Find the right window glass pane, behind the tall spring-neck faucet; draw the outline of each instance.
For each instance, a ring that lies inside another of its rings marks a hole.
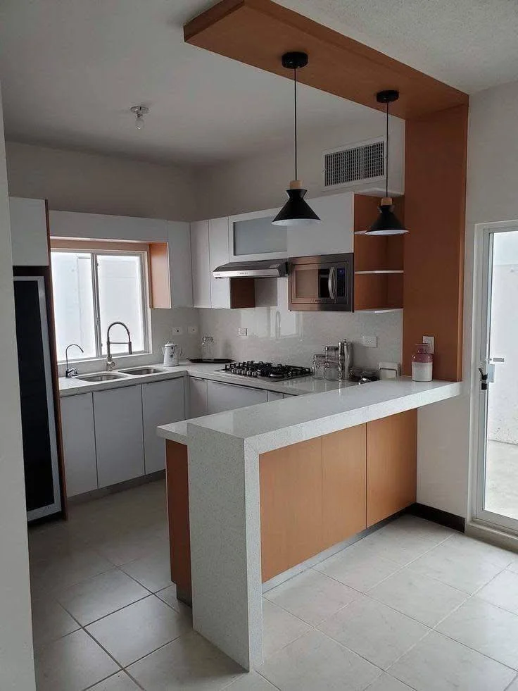
[[[113,321],[124,322],[130,329],[133,351],[143,351],[145,339],[140,256],[98,254],[97,275],[103,355],[106,355],[106,329]],[[113,354],[127,353],[127,334],[122,326],[112,328],[110,340],[124,342],[122,345],[113,345]]]

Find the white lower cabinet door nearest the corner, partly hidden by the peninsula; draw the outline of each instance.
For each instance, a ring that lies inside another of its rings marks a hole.
[[[185,419],[184,378],[142,385],[144,421],[144,467],[146,475],[165,468],[165,440],[158,437],[158,425]]]

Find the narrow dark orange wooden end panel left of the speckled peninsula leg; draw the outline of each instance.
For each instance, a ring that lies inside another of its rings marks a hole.
[[[171,580],[176,583],[177,597],[183,602],[190,603],[192,586],[187,446],[167,440],[165,442],[165,458]]]

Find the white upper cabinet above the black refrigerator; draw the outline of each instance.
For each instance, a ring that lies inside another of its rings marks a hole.
[[[45,201],[9,197],[9,211],[13,266],[48,266]]]

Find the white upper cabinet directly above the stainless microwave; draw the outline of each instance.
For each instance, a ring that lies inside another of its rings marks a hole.
[[[343,254],[353,251],[354,194],[342,192],[308,199],[322,223],[288,230],[289,256]]]

